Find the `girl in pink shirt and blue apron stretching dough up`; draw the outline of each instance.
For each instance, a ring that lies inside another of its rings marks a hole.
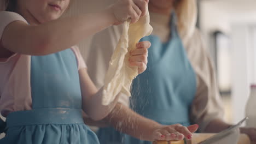
[[[101,105],[102,90],[90,80],[74,45],[128,18],[136,22],[146,1],[121,0],[98,13],[63,19],[58,18],[69,0],[9,0],[6,5],[0,12],[0,111],[7,121],[0,122],[0,132],[6,133],[0,143],[99,143],[82,110],[100,120],[118,97]],[[130,61],[138,73],[147,64],[142,48]]]

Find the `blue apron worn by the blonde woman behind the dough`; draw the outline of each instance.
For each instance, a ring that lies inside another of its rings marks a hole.
[[[166,44],[155,35],[143,38],[152,44],[148,50],[148,65],[132,84],[131,109],[140,115],[165,125],[190,125],[190,106],[196,91],[196,79],[175,25],[173,13],[171,39]],[[111,127],[98,131],[101,143],[146,144]]]

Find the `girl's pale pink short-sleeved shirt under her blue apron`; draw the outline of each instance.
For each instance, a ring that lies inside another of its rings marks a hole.
[[[9,23],[26,22],[21,15],[8,11],[0,11],[0,21],[0,40]],[[71,50],[77,57],[78,70],[86,68],[78,47],[73,46]],[[13,111],[32,109],[30,64],[31,56],[19,53],[15,53],[7,59],[0,59],[0,112],[2,116],[7,117]]]

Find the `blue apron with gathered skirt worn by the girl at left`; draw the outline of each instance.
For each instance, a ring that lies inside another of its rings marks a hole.
[[[71,49],[31,56],[32,110],[11,112],[2,144],[99,143],[83,122],[77,59]]]

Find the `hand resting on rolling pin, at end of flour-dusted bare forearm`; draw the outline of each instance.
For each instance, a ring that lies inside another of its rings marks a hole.
[[[184,138],[192,139],[192,133],[198,129],[199,125],[194,124],[189,127],[184,127],[181,124],[165,125],[156,128],[153,132],[154,140],[183,140]]]

